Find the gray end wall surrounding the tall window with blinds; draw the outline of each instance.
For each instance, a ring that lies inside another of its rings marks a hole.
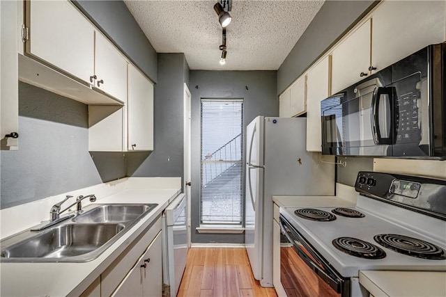
[[[246,88],[247,87],[247,88]],[[201,71],[190,72],[192,95],[192,242],[244,243],[243,234],[199,234],[200,184],[200,100],[243,98],[244,131],[257,115],[279,115],[276,71]],[[245,139],[243,140],[246,144]]]

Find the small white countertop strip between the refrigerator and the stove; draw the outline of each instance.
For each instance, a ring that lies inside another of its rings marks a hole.
[[[279,207],[353,207],[354,202],[337,196],[272,196]]]

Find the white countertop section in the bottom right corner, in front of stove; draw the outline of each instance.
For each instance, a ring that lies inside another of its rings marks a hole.
[[[378,296],[446,296],[446,272],[360,271],[360,284]]]

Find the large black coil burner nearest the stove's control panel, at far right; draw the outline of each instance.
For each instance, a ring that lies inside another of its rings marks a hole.
[[[374,239],[381,246],[404,255],[431,260],[446,259],[443,248],[421,239],[399,234],[378,234]]]

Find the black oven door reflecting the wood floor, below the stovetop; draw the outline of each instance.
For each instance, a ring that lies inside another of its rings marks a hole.
[[[288,296],[351,296],[342,278],[281,215],[279,224],[290,246],[281,246],[280,275]]]

